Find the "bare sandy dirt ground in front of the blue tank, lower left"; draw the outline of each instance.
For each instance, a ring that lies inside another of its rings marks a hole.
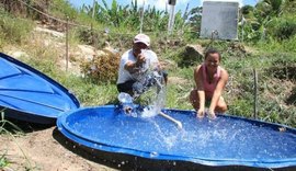
[[[0,135],[0,157],[9,164],[3,171],[113,171],[119,166],[80,150],[69,142],[56,126],[36,126],[16,123],[25,134]],[[12,128],[4,127],[10,130]],[[0,168],[1,170],[1,168]]]

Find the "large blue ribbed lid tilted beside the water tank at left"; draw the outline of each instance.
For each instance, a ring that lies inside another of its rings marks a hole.
[[[7,117],[49,124],[80,106],[61,84],[1,53],[0,68],[0,106],[8,109]]]

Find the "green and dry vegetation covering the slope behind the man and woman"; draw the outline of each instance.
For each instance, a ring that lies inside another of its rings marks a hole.
[[[151,48],[164,62],[169,80],[175,80],[167,87],[167,107],[192,109],[187,95],[194,87],[193,69],[203,57],[187,45],[198,44],[203,49],[212,46],[223,53],[223,65],[230,73],[224,94],[229,104],[229,114],[254,117],[253,101],[257,98],[259,119],[296,126],[294,0],[262,0],[255,7],[242,7],[239,33],[243,34],[239,34],[239,38],[243,42],[197,39],[203,10],[201,7],[186,10],[183,14],[179,11],[174,30],[168,35],[168,11],[159,11],[155,7],[147,7],[143,11],[137,0],[128,5],[119,5],[113,0],[111,7],[106,0],[102,0],[102,4],[96,1],[94,11],[92,5],[75,9],[65,0],[25,2],[0,0],[0,49],[13,45],[27,49],[30,57],[21,59],[75,92],[81,105],[116,102],[115,81],[119,54],[130,47],[130,39],[141,27],[139,16],[143,14],[143,32],[150,35]],[[81,61],[84,77],[61,69],[57,65],[59,52],[55,47],[42,46],[42,38],[32,37],[35,21],[64,32],[67,20],[71,23],[70,44],[84,43],[98,49],[111,46],[117,50],[113,53],[104,49],[105,54],[95,56],[91,61]],[[257,96],[254,71],[258,75]],[[0,134],[8,134],[4,124],[12,123],[2,116]],[[0,169],[9,164],[5,156],[5,151],[0,151]]]

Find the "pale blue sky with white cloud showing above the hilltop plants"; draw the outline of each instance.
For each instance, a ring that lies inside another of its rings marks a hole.
[[[71,4],[73,4],[73,7],[79,8],[81,7],[83,3],[84,4],[89,4],[92,5],[93,0],[68,0]],[[102,3],[102,0],[95,0],[99,3]],[[109,2],[109,4],[111,4],[112,0],[105,0],[106,2]],[[130,4],[132,0],[116,0],[119,4]],[[157,9],[159,10],[164,10],[166,9],[166,2],[168,0],[138,0],[138,4],[141,5],[143,2],[145,1],[145,7],[147,7],[147,4],[151,4],[155,5]],[[254,5],[259,0],[210,0],[210,1],[236,1],[239,2],[240,5],[246,5],[246,4],[250,4],[250,5]],[[175,11],[181,10],[182,12],[185,11],[186,5],[189,3],[189,9],[192,9],[194,7],[200,7],[203,3],[203,0],[177,0],[177,4],[175,4]]]

